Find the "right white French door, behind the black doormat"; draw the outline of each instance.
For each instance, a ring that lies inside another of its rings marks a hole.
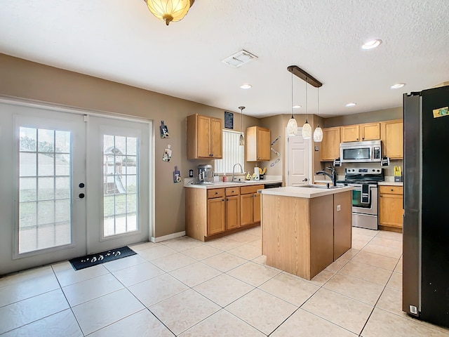
[[[151,124],[90,116],[87,121],[88,253],[149,239]]]

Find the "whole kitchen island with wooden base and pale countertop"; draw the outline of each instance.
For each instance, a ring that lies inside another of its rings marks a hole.
[[[309,186],[262,191],[267,265],[304,279],[312,279],[351,248],[353,187]]]

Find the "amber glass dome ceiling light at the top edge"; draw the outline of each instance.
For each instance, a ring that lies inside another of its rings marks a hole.
[[[195,0],[144,0],[148,9],[159,20],[177,22],[187,15]]]

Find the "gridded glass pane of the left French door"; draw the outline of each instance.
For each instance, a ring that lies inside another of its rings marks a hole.
[[[19,253],[72,242],[70,139],[68,131],[20,127]]]

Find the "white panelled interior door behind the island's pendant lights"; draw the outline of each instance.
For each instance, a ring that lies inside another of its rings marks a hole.
[[[310,140],[302,138],[301,130],[298,128],[296,136],[286,136],[286,186],[311,183]]]

